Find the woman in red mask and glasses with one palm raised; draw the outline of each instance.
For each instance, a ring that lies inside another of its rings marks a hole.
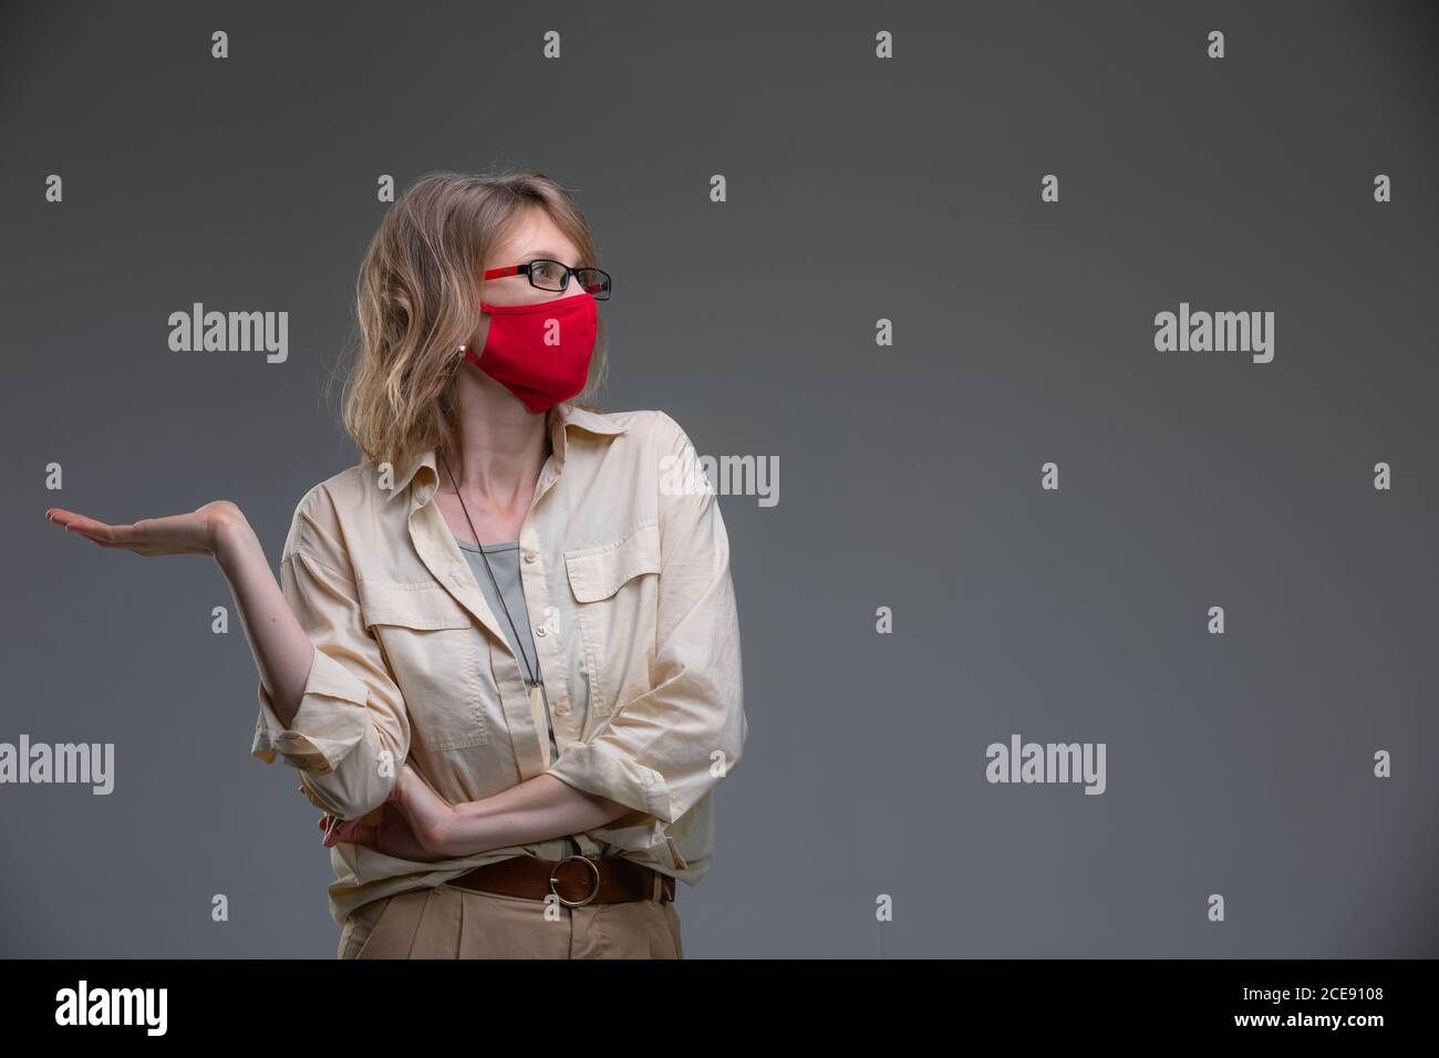
[[[589,226],[538,173],[420,180],[360,272],[344,425],[279,584],[229,501],[106,525],[213,554],[260,674],[252,756],[324,812],[338,957],[684,957],[747,725],[730,548],[663,412],[604,370]]]

